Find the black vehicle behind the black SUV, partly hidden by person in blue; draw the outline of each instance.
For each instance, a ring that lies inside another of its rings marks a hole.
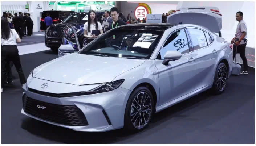
[[[41,19],[40,19],[40,30],[44,31],[46,30],[46,25],[44,23],[44,18],[47,17],[47,14],[50,14],[50,17],[52,18],[53,24],[58,24],[61,21],[65,20],[70,14],[76,13],[75,11],[57,11],[57,10],[51,10],[51,11],[43,11]]]

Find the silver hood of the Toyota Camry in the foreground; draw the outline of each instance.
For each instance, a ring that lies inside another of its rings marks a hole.
[[[33,71],[33,77],[74,85],[111,82],[144,61],[73,53],[38,66]]]

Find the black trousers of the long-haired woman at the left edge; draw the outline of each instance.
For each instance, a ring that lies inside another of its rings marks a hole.
[[[1,87],[3,87],[4,83],[6,82],[6,78],[7,78],[6,66],[8,65],[8,61],[13,62],[19,74],[20,83],[25,84],[26,79],[25,79],[23,70],[21,68],[20,56],[18,54],[17,46],[4,45],[1,47]]]

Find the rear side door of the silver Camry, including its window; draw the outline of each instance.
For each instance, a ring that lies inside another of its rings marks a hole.
[[[192,41],[192,52],[195,54],[196,82],[195,89],[210,85],[215,74],[218,48],[213,44],[210,34],[202,29],[187,28]]]

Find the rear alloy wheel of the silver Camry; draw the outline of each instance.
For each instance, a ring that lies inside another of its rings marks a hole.
[[[219,68],[216,84],[219,91],[223,91],[227,84],[227,69],[224,66]]]

